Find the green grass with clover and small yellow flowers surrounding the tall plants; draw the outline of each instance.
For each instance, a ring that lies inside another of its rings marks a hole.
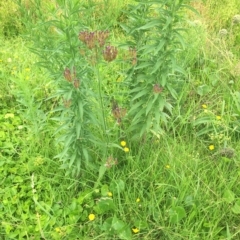
[[[219,20],[229,27],[239,14],[238,3],[229,2],[223,18],[213,0],[194,5],[207,17],[196,27],[197,16],[189,15],[188,48],[178,56],[188,77],[164,132],[136,141],[126,135],[129,153],[116,139],[118,164],[101,168],[106,159],[99,156],[98,166],[78,177],[55,158],[62,148],[53,120],[61,104],[53,97],[57,77],[35,64],[27,29],[23,37],[0,38],[0,239],[240,239],[239,26],[226,39],[217,36]],[[118,23],[126,20],[120,13],[127,3],[115,9],[112,1],[97,21],[99,5],[89,1],[89,24],[111,27],[112,40],[121,42]],[[118,66],[101,70],[109,95],[121,89],[113,77]],[[225,148],[234,155],[221,152]]]

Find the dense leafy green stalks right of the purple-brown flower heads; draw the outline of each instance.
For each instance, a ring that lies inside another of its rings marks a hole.
[[[129,22],[122,27],[133,52],[127,78],[128,131],[133,138],[148,132],[159,136],[168,126],[186,74],[178,61],[186,47],[182,37],[185,7],[189,8],[184,1],[139,1],[129,6]]]

